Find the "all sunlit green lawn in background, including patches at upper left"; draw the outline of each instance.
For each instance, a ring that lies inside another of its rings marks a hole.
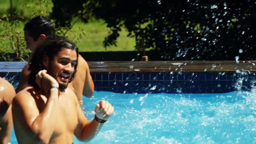
[[[26,2],[27,7],[22,7],[22,3]],[[50,4],[47,10],[51,11],[53,4],[49,0]],[[0,15],[6,13],[10,7],[10,0],[0,0]],[[30,14],[33,10],[36,10],[39,6],[35,6],[33,0],[13,0],[13,7],[23,15],[24,17],[31,18]],[[45,15],[45,14],[44,14]],[[47,15],[47,13],[46,13]],[[21,32],[23,35],[23,26],[26,23],[20,22],[20,25],[16,26],[16,31]],[[85,35],[82,34],[82,30]],[[70,40],[75,40],[76,45],[79,47],[80,52],[105,52],[105,51],[134,51],[135,50],[135,38],[127,37],[128,32],[122,29],[120,36],[117,39],[117,46],[109,46],[105,48],[103,46],[103,40],[110,30],[106,27],[106,23],[103,20],[89,20],[89,23],[77,22],[67,33],[66,36]],[[3,45],[8,49],[8,39],[2,41]],[[8,50],[11,50],[10,48]]]

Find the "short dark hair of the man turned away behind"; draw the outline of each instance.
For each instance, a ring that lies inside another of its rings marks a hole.
[[[28,31],[29,36],[33,37],[34,41],[37,41],[41,34],[55,36],[55,26],[53,22],[44,16],[32,18],[25,24],[23,30]]]

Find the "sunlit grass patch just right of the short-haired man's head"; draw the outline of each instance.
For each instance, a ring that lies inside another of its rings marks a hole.
[[[82,28],[85,31],[85,35],[79,29]],[[105,52],[105,51],[134,51],[135,39],[127,37],[128,32],[122,29],[120,36],[117,39],[117,46],[110,46],[105,48],[103,46],[103,40],[110,30],[106,27],[106,23],[103,20],[89,20],[89,23],[76,23],[72,29],[67,33],[69,39],[74,39],[82,34],[81,38],[77,42],[80,52]]]

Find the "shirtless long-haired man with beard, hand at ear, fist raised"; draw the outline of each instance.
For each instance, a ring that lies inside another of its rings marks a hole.
[[[28,86],[13,99],[13,124],[19,144],[71,144],[73,135],[90,141],[112,115],[108,101],[95,106],[88,121],[69,83],[75,76],[78,49],[69,40],[46,38],[30,60]]]

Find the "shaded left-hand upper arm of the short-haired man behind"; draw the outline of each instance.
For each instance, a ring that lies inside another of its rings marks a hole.
[[[30,71],[28,70],[28,68],[29,68],[29,64],[26,64],[20,74],[20,81],[19,81],[19,85],[16,88],[16,93],[20,92],[21,90],[27,87],[28,75],[30,74]]]

